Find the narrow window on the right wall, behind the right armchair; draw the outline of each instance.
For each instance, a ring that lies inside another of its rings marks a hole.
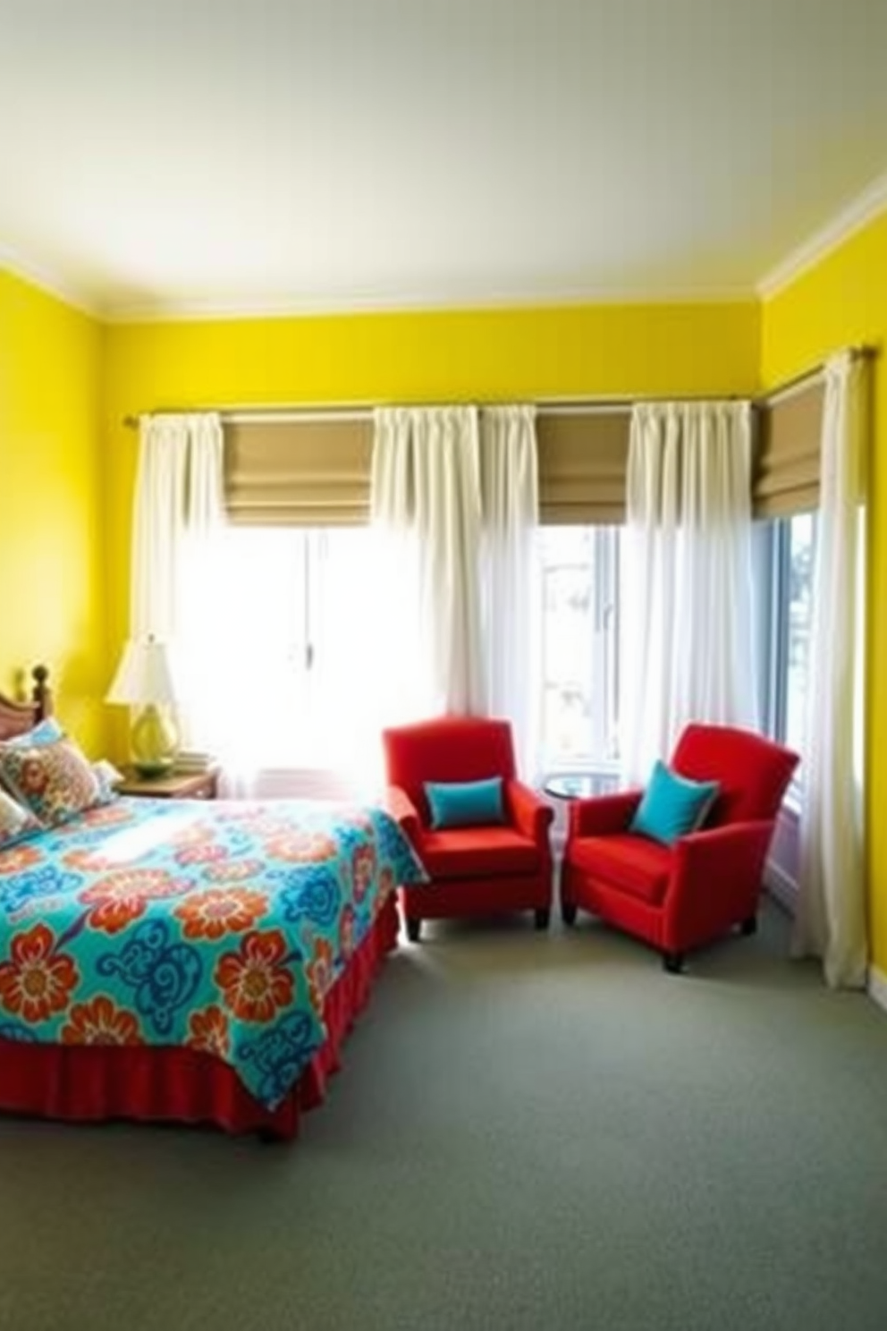
[[[757,540],[763,715],[773,737],[803,755],[817,550],[815,514],[802,512],[763,522],[758,526]],[[798,773],[798,788],[802,776],[803,765]]]

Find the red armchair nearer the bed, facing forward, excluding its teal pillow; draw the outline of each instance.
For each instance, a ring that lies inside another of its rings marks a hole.
[[[553,811],[516,780],[508,721],[447,716],[383,732],[391,812],[412,841],[431,882],[400,889],[407,934],[415,942],[423,920],[533,910],[548,928]],[[426,781],[503,777],[505,823],[431,828]]]

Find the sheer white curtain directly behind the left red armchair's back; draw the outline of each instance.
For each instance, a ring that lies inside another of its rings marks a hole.
[[[398,615],[384,719],[484,715],[473,407],[376,410],[371,515]]]

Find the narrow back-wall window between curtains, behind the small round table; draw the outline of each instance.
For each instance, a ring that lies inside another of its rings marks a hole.
[[[618,757],[618,527],[540,528],[543,763]]]

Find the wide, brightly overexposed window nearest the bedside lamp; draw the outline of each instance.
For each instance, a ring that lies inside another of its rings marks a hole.
[[[378,748],[368,528],[229,527],[214,572],[223,636],[190,616],[198,732],[247,765],[359,771]]]

